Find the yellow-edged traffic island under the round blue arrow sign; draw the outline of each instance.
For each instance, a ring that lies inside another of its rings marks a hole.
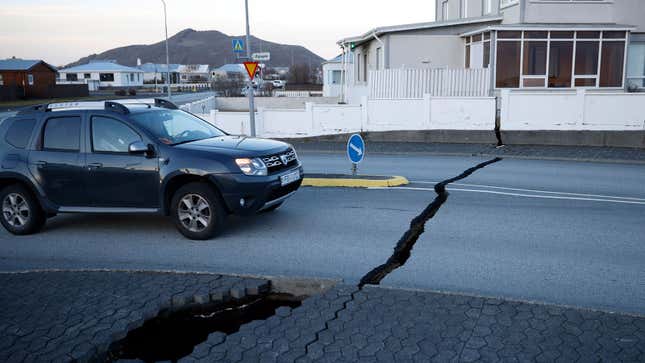
[[[302,180],[302,186],[307,187],[384,188],[406,184],[410,182],[402,176],[310,174]]]

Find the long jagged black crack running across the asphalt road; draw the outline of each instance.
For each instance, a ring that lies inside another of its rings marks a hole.
[[[426,208],[419,214],[414,217],[410,222],[410,228],[405,231],[401,239],[396,243],[394,247],[394,252],[388,260],[369,271],[365,276],[363,276],[358,284],[359,288],[362,288],[365,285],[378,285],[381,280],[385,278],[390,272],[396,270],[397,268],[405,265],[412,254],[412,248],[419,239],[419,236],[425,231],[426,223],[435,216],[439,208],[443,203],[448,200],[448,193],[446,191],[446,185],[456,182],[461,179],[465,179],[470,176],[475,171],[486,167],[487,165],[496,163],[502,160],[502,158],[494,158],[483,163],[479,163],[472,168],[466,169],[463,173],[457,175],[456,177],[446,179],[442,182],[435,184],[434,191],[437,193],[435,199],[426,206]]]

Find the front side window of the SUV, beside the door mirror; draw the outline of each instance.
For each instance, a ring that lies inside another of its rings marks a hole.
[[[128,146],[141,137],[121,121],[101,116],[92,117],[92,147],[96,152],[127,153]]]

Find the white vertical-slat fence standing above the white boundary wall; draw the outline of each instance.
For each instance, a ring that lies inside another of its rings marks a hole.
[[[490,94],[490,70],[383,69],[369,72],[370,99],[434,97],[486,97]]]

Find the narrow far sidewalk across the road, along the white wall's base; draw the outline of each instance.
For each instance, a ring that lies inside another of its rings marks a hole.
[[[346,143],[326,141],[292,142],[303,152],[345,153]],[[518,159],[593,161],[610,163],[645,164],[645,149],[617,147],[506,145],[500,148],[491,144],[439,144],[420,142],[369,142],[367,153],[374,154],[428,154],[454,156],[485,156]]]

